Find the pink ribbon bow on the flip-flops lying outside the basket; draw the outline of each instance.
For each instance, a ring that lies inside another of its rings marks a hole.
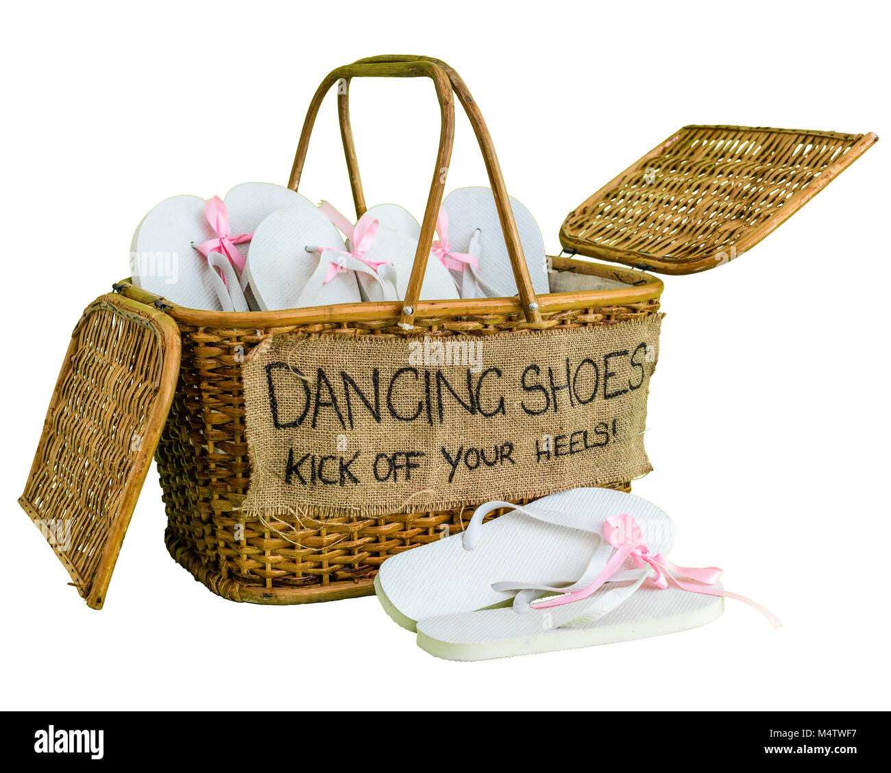
[[[670,583],[674,584],[681,590],[688,590],[691,593],[704,593],[707,596],[723,596],[725,598],[736,598],[745,602],[749,606],[754,606],[761,614],[764,614],[773,625],[779,628],[782,623],[775,615],[769,612],[764,606],[757,604],[751,598],[740,596],[738,593],[731,593],[728,590],[720,590],[717,588],[708,588],[708,585],[714,585],[723,574],[723,569],[716,566],[707,566],[699,569],[695,566],[677,566],[669,561],[660,553],[651,553],[650,549],[644,544],[642,539],[641,527],[633,517],[629,515],[612,516],[606,519],[603,524],[603,537],[614,548],[616,553],[609,559],[607,565],[603,567],[603,571],[598,575],[587,588],[574,590],[570,593],[564,593],[558,598],[552,598],[547,601],[535,604],[535,609],[545,609],[549,606],[561,606],[569,604],[573,601],[580,601],[588,598],[595,590],[601,588],[605,582],[609,582],[609,578],[618,572],[625,563],[625,559],[631,558],[634,566],[638,569],[649,567],[654,574],[650,574],[644,581],[647,585],[659,590],[666,590]],[[691,580],[703,583],[702,585],[692,585],[689,582],[679,580],[674,574],[680,574],[683,577],[689,577]]]

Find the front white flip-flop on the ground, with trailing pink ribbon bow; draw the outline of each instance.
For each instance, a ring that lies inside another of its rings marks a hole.
[[[774,627],[781,625],[763,606],[723,590],[721,569],[676,566],[650,549],[654,543],[627,513],[607,517],[602,537],[613,552],[593,582],[590,573],[562,587],[495,582],[495,589],[516,592],[511,607],[422,620],[418,646],[447,660],[476,661],[642,639],[712,622],[722,614],[724,598],[744,601]]]

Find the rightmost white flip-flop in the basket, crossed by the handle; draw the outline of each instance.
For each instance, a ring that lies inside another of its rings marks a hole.
[[[536,295],[543,295],[549,289],[542,232],[529,210],[512,196],[510,200],[532,289]],[[516,281],[492,190],[459,188],[446,196],[443,208],[448,222],[446,233],[439,230],[439,248],[445,247],[457,256],[475,252],[478,261],[478,266],[474,266],[459,257],[463,265],[452,269],[461,297],[515,296]],[[477,242],[476,249],[471,240]]]

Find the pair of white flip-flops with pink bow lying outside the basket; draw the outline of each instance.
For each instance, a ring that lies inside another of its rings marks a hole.
[[[496,509],[513,509],[487,523]],[[523,507],[480,506],[466,531],[387,559],[381,606],[418,645],[475,661],[695,628],[723,612],[721,570],[663,554],[674,523],[632,494],[580,488]]]

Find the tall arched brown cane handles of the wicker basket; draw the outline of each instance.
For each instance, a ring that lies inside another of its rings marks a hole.
[[[486,172],[489,175],[489,183],[495,194],[495,207],[501,220],[504,232],[504,241],[507,245],[508,255],[511,257],[514,281],[519,290],[519,299],[523,307],[523,313],[529,322],[540,322],[541,313],[538,311],[538,301],[532,289],[532,281],[529,279],[529,270],[526,258],[523,256],[523,248],[519,242],[517,224],[514,222],[511,210],[511,199],[495,156],[495,148],[489,135],[486,122],[479,112],[477,103],[474,102],[467,86],[461,77],[445,62],[430,59],[423,56],[377,56],[371,59],[356,61],[344,67],[331,71],[316,90],[312,102],[307,110],[307,118],[303,123],[300,133],[297,155],[294,158],[294,166],[290,173],[288,186],[296,191],[303,172],[303,164],[307,159],[309,138],[312,134],[315,118],[322,105],[325,94],[334,84],[338,87],[338,115],[340,120],[340,137],[343,141],[344,154],[347,157],[347,169],[349,172],[350,187],[353,191],[353,201],[356,205],[356,217],[361,217],[365,212],[364,193],[362,180],[359,176],[356,148],[353,143],[353,132],[349,124],[349,81],[353,77],[429,77],[436,88],[437,98],[441,112],[441,125],[439,132],[439,149],[437,151],[437,164],[433,173],[433,182],[430,184],[430,192],[427,199],[427,208],[424,211],[424,219],[421,222],[421,236],[418,240],[418,250],[414,256],[412,274],[409,277],[408,287],[405,290],[405,301],[400,313],[400,324],[404,327],[413,325],[414,315],[418,312],[418,301],[421,296],[421,283],[424,280],[424,271],[427,268],[427,259],[430,248],[433,246],[433,237],[436,232],[437,215],[442,204],[443,190],[446,186],[446,175],[442,174],[447,169],[452,158],[452,146],[454,143],[454,100],[452,91],[458,95],[459,101],[470,118],[470,125],[477,136],[479,149],[483,160],[486,162]]]

